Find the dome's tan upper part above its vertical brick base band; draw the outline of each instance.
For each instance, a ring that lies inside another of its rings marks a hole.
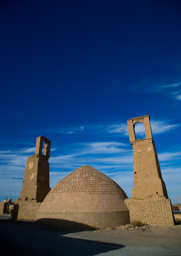
[[[100,212],[128,210],[128,198],[108,176],[84,165],[60,180],[47,194],[38,212]]]

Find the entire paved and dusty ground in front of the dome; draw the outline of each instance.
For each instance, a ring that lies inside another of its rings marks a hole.
[[[181,255],[181,222],[95,232],[0,216],[0,245],[2,256],[176,256]]]

